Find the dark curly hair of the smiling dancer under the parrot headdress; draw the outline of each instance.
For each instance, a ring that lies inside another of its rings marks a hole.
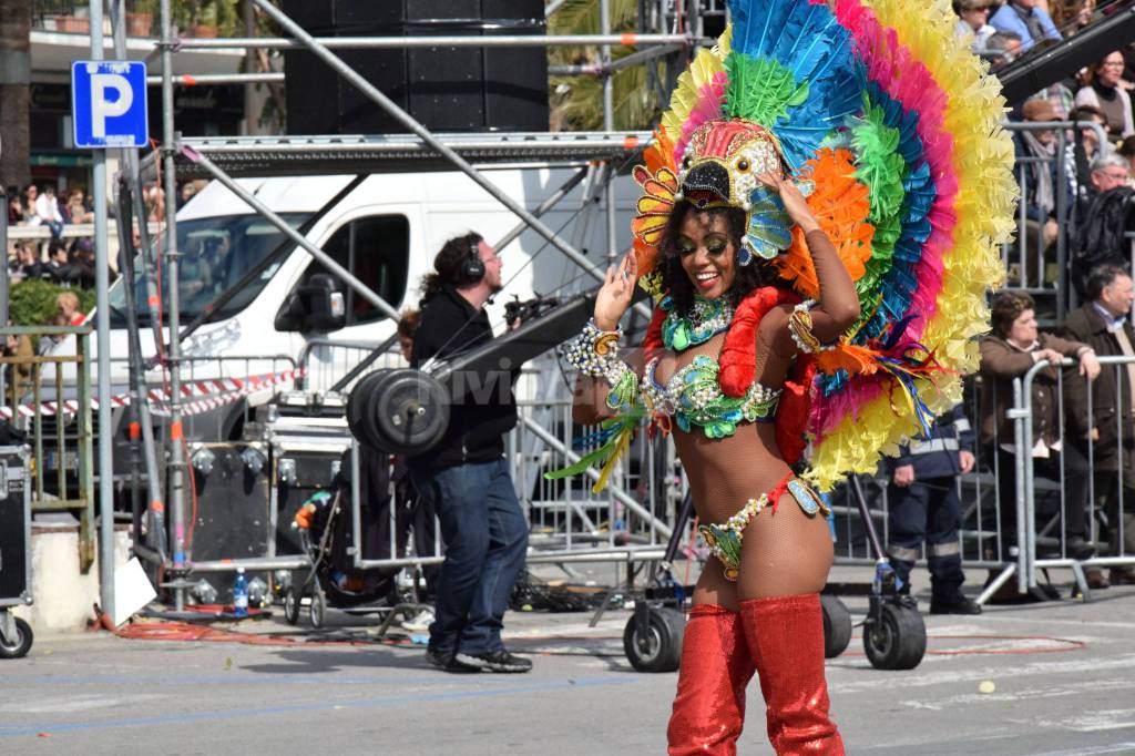
[[[699,216],[724,216],[729,227],[729,238],[733,243],[733,249],[741,249],[741,240],[745,237],[747,224],[745,211],[738,208],[713,208],[711,210],[698,210],[688,200],[680,200],[670,219],[666,221],[666,229],[663,234],[658,251],[662,253],[662,286],[674,300],[674,310],[679,314],[689,314],[693,306],[693,282],[682,268],[682,255],[678,250],[678,238],[682,234],[682,224],[686,218],[696,212]],[[776,270],[766,260],[754,258],[747,266],[738,264],[737,277],[733,285],[725,292],[725,296],[733,304],[739,303],[749,292],[762,286],[787,285],[782,282]]]

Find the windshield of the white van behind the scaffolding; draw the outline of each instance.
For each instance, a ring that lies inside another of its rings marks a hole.
[[[311,213],[291,212],[280,215],[292,228],[297,228]],[[286,241],[283,233],[260,216],[221,216],[177,221],[178,293],[182,321],[201,314],[218,296],[234,286],[245,274],[260,263]],[[239,312],[257,297],[279,269],[284,255],[274,261],[220,308],[215,317],[226,318]],[[162,259],[161,287],[169,291],[169,279]],[[150,309],[146,306],[146,283],[137,275],[135,262],[135,303],[140,325],[150,325]],[[110,289],[110,324],[112,328],[126,326],[126,292],[123,280]],[[169,316],[169,297],[162,296],[162,316]]]

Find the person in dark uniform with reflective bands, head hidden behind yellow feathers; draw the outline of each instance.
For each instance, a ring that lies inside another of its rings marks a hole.
[[[961,405],[939,418],[926,438],[899,447],[888,461],[891,482],[888,548],[891,565],[909,589],[923,541],[930,568],[931,614],[981,614],[961,593],[961,502],[958,476],[974,469],[974,431]]]

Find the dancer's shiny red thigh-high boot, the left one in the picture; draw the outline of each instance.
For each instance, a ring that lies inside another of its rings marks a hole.
[[[737,612],[715,604],[695,606],[682,638],[682,666],[666,729],[666,753],[737,754],[745,721],[745,687],[753,671]]]

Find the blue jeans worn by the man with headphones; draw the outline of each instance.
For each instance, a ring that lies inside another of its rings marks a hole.
[[[432,488],[445,543],[430,650],[485,654],[504,648],[504,613],[528,552],[528,521],[507,463],[459,464],[415,472],[414,479]]]

